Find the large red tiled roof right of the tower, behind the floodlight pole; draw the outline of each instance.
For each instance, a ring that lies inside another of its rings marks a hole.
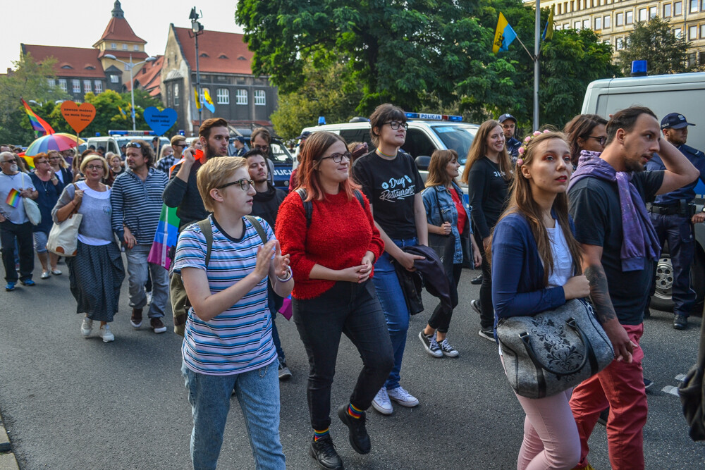
[[[190,28],[174,27],[183,54],[196,70],[196,52]],[[204,31],[198,37],[199,68],[207,73],[242,73],[252,75],[252,52],[243,35],[235,32]],[[205,55],[204,55],[205,54]]]

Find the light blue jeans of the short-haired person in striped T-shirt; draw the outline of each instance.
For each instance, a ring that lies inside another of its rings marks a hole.
[[[196,373],[181,362],[181,373],[188,388],[188,401],[193,414],[191,463],[195,470],[216,468],[233,388],[245,416],[255,468],[286,468],[279,440],[279,378],[276,366],[274,361],[254,371],[209,376]]]

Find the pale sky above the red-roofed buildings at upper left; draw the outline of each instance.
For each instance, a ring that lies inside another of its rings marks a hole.
[[[0,41],[0,73],[20,58],[20,43],[92,47],[111,18],[114,0],[0,0],[4,18]],[[235,25],[236,0],[121,0],[135,34],[147,41],[147,54],[164,54],[169,23],[190,27],[192,7],[211,31],[243,32]]]

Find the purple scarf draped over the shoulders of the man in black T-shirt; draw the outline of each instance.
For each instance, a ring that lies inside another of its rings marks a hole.
[[[609,163],[600,158],[598,152],[583,150],[580,152],[577,170],[570,178],[568,190],[582,178],[588,177],[617,183],[622,212],[622,271],[640,271],[644,269],[644,259],[658,260],[661,245],[658,243],[651,218],[646,213],[644,201],[637,187],[631,182],[632,173],[615,171]]]

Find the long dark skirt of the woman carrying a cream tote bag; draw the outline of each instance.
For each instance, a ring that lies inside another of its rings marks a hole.
[[[76,256],[66,258],[76,313],[95,321],[113,321],[118,311],[120,287],[125,279],[123,258],[115,242],[86,245],[78,242]]]

